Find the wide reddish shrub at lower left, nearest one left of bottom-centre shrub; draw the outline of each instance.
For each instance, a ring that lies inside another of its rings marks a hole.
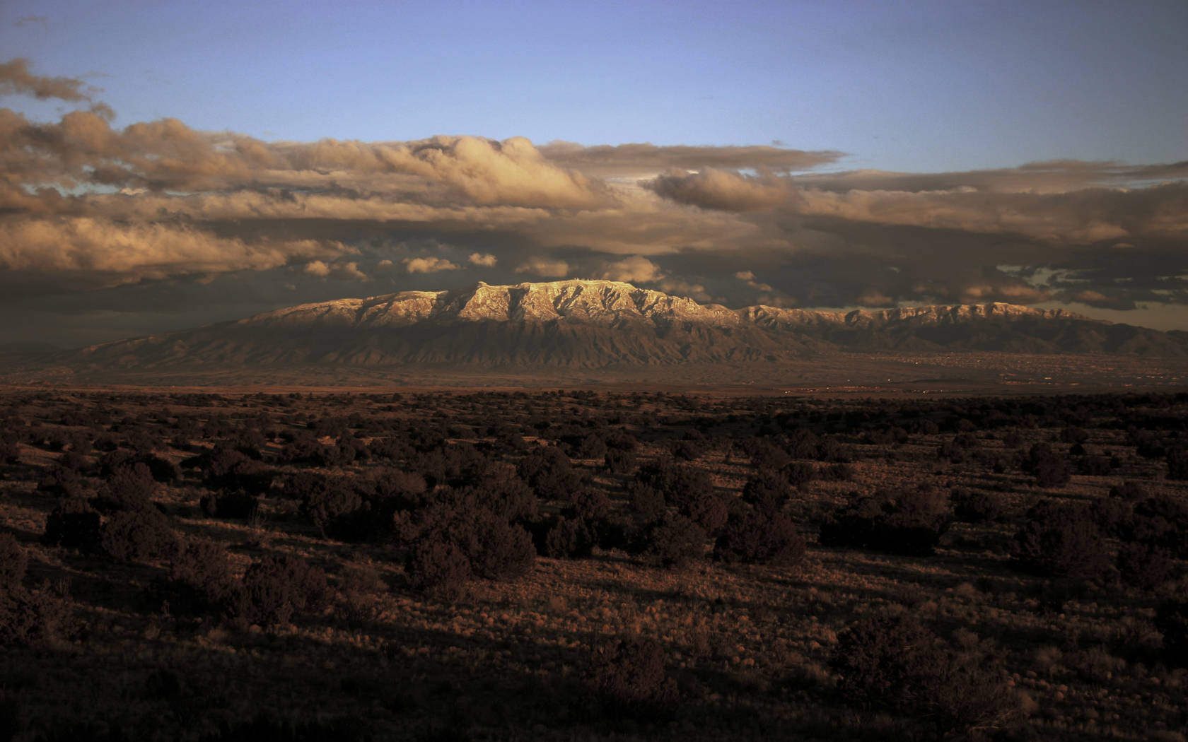
[[[301,557],[263,557],[244,572],[229,614],[241,626],[283,626],[293,614],[321,613],[331,598],[321,567]]]

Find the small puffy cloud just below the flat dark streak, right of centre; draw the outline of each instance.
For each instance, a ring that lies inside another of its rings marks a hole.
[[[744,176],[725,170],[670,171],[640,185],[658,195],[703,209],[766,211],[789,198],[785,180],[773,176]]]

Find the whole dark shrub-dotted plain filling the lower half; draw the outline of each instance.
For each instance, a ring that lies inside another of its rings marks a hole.
[[[1188,394],[0,393],[0,738],[1182,740]]]

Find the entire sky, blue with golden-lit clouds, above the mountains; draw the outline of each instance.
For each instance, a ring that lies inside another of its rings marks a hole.
[[[1188,330],[1188,4],[0,5],[0,344],[611,279]]]

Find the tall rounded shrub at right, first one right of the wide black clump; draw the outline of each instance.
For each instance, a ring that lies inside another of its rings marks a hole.
[[[1107,566],[1105,541],[1087,507],[1044,500],[1026,518],[1011,551],[1017,567],[1059,577],[1101,576]]]

